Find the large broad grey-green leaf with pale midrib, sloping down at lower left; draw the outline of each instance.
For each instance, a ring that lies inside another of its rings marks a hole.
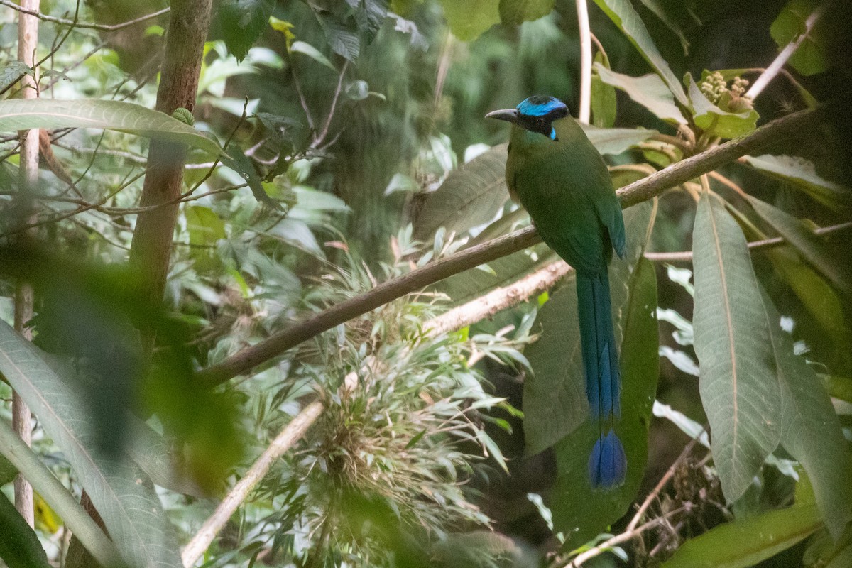
[[[181,566],[158,496],[128,461],[95,453],[95,433],[78,393],[55,375],[36,347],[0,322],[0,372],[65,453],[107,530],[130,565]]]

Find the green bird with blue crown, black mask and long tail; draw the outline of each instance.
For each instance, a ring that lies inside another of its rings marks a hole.
[[[609,301],[613,249],[625,255],[625,221],[601,154],[565,104],[531,96],[486,118],[512,123],[506,185],[538,234],[577,272],[577,309],[590,416],[600,435],[591,450],[592,487],[625,480],[627,458],[613,431],[620,415],[619,356]]]

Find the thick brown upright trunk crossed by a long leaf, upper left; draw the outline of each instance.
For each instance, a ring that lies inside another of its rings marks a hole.
[[[212,0],[173,0],[165,59],[157,91],[157,110],[171,114],[195,105],[204,40],[210,27]],[[145,301],[163,299],[169,272],[171,242],[181,196],[186,148],[166,141],[151,141],[148,171],[142,186],[141,207],[162,205],[141,213],[136,220],[130,263],[145,278]],[[147,338],[147,349],[153,338]]]

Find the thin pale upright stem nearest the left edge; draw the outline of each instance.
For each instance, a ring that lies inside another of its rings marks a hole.
[[[37,12],[41,0],[21,0],[20,7]],[[29,14],[18,14],[18,60],[26,66],[35,66],[38,45],[38,19]],[[35,99],[38,96],[38,70],[33,76],[21,80],[21,96]],[[38,181],[38,129],[20,131],[20,210],[22,216],[32,218],[33,190]],[[29,238],[29,231],[22,232],[21,241]],[[14,329],[28,340],[32,330],[26,323],[32,318],[32,284],[19,282],[14,294]],[[17,393],[12,395],[12,426],[26,445],[32,444],[32,414]],[[14,478],[14,506],[26,522],[32,526],[35,517],[32,507],[32,485],[20,473]]]

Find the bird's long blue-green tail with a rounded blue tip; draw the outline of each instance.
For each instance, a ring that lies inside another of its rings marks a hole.
[[[599,427],[598,439],[589,457],[589,477],[592,487],[609,489],[624,483],[627,457],[621,440],[613,431],[621,415],[621,377],[606,270],[593,277],[577,275],[577,309],[586,396],[591,419]]]

